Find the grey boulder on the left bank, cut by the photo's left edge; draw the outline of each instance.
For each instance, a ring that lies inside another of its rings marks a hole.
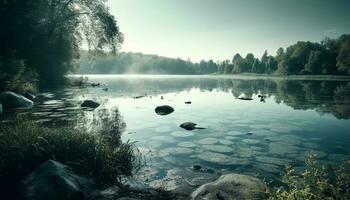
[[[23,108],[30,107],[33,105],[33,101],[27,99],[26,97],[16,94],[14,92],[2,92],[0,93],[0,103],[3,108]]]

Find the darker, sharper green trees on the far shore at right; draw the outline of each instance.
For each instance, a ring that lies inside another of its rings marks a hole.
[[[276,56],[264,52],[256,58],[252,53],[245,57],[234,55],[218,65],[219,74],[280,74],[280,75],[349,75],[350,35],[336,39],[326,38],[320,43],[297,42],[285,49],[279,48]]]

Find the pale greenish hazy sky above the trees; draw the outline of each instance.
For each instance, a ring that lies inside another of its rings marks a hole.
[[[108,0],[121,51],[191,61],[260,57],[350,33],[350,0]]]

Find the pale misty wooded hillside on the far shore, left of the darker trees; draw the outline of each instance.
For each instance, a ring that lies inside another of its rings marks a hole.
[[[87,53],[85,53],[87,54]],[[212,74],[218,65],[202,60],[193,63],[180,58],[120,52],[90,59],[83,56],[78,73],[81,74]]]

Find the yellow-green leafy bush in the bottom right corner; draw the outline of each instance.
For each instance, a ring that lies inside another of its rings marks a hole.
[[[321,166],[311,153],[305,164],[306,169],[298,174],[288,166],[282,178],[285,187],[274,189],[269,199],[350,199],[350,161],[338,167]]]

